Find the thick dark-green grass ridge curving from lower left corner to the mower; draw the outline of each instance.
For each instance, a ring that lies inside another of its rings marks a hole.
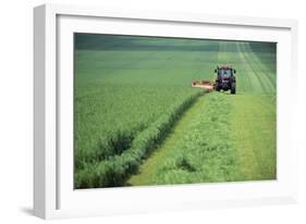
[[[131,148],[120,155],[88,164],[85,169],[77,171],[75,173],[75,188],[119,187],[124,185],[126,178],[137,172],[142,160],[158,147],[175,122],[201,95],[203,92],[196,92],[164,113],[147,129],[138,134]]]

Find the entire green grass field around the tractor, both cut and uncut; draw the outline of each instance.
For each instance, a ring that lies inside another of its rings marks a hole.
[[[237,92],[204,94],[231,64]],[[75,188],[274,179],[276,45],[75,35]]]

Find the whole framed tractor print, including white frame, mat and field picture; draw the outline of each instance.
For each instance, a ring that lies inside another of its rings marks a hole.
[[[36,215],[296,201],[295,21],[34,13]]]

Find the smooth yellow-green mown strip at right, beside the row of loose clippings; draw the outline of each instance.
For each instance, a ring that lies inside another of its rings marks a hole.
[[[238,95],[230,99],[231,138],[238,154],[237,181],[276,179],[276,102],[272,95]]]

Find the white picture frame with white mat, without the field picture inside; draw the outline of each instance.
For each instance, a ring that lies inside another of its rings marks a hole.
[[[297,90],[290,85],[298,79],[296,21],[44,4],[34,10],[34,28],[35,215],[58,219],[297,201],[298,145],[293,130],[298,124],[292,100]],[[69,140],[74,32],[277,41],[278,179],[74,190]]]

